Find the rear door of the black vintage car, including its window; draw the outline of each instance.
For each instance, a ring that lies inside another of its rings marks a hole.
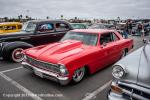
[[[70,27],[66,23],[56,22],[55,29],[56,29],[55,34],[56,40],[60,40],[70,30]]]

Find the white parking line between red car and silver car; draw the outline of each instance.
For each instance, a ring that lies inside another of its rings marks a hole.
[[[92,93],[88,93],[88,95],[83,98],[82,100],[91,100],[93,99],[97,94],[99,94],[100,92],[102,92],[105,88],[107,88],[111,83],[111,80],[109,82],[107,82],[106,84],[104,84],[103,86],[99,87],[97,90],[93,91]]]

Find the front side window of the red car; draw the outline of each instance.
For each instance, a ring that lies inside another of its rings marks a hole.
[[[112,42],[111,33],[103,33],[100,36],[100,44]]]

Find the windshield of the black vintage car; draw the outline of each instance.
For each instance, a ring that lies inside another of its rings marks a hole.
[[[34,32],[36,28],[36,24],[32,22],[26,22],[23,24],[22,31],[26,32]]]

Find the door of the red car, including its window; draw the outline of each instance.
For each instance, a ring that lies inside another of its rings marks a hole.
[[[93,63],[95,71],[102,69],[111,63],[109,56],[109,53],[111,51],[111,41],[109,33],[103,33],[100,35],[98,45],[98,50],[95,54],[95,60]]]

